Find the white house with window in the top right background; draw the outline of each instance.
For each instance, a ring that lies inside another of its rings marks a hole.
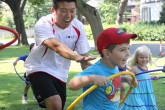
[[[140,19],[142,22],[158,21],[162,11],[162,0],[141,0]]]

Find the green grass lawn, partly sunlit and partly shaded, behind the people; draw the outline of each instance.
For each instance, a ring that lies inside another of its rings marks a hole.
[[[0,51],[0,109],[6,110],[44,110],[39,108],[37,102],[33,99],[33,93],[29,90],[28,93],[28,104],[22,104],[22,95],[25,83],[17,76],[13,68],[13,60],[18,56],[27,54],[29,51],[28,46],[10,46]],[[90,54],[97,53],[96,51],[91,51]],[[96,62],[99,57],[92,61]],[[154,60],[156,57],[154,58]],[[4,62],[4,60],[6,60]],[[163,65],[165,58],[157,61],[157,64]],[[23,63],[20,61],[16,69],[21,76],[24,74]],[[159,69],[157,67],[149,66],[149,69]],[[77,73],[81,72],[81,67],[78,63],[72,61],[71,68],[69,72],[68,81]],[[157,74],[159,76],[165,76],[165,73],[154,72],[151,74]],[[157,81],[152,81],[153,89],[159,110],[165,110],[165,84],[162,84],[165,79],[160,79]],[[65,109],[82,93],[81,90],[71,91],[67,88],[67,100]],[[81,110],[82,100],[73,108],[73,110]]]

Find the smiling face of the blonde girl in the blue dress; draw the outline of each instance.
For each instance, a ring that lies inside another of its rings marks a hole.
[[[145,67],[149,62],[149,54],[147,52],[139,53],[137,56],[138,66]]]

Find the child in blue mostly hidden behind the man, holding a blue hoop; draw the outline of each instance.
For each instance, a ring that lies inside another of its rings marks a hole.
[[[30,51],[31,51],[31,49],[33,48],[33,46],[34,46],[34,43],[30,44]],[[14,65],[14,66],[17,65],[17,62],[18,62],[19,60],[23,60],[23,61],[25,62],[25,60],[26,60],[26,58],[27,58],[28,56],[29,56],[29,54],[26,54],[26,55],[23,55],[23,56],[19,56],[19,57],[13,62],[13,65]],[[26,77],[26,73],[24,74],[24,78],[26,79],[26,81],[29,81],[29,79]],[[30,88],[30,84],[26,83],[25,88],[24,88],[24,95],[23,95],[23,97],[22,97],[22,103],[23,103],[23,104],[28,103],[28,102],[27,102],[27,93],[28,93],[29,88]]]

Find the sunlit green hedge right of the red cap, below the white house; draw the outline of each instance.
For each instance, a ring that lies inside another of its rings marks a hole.
[[[135,40],[139,41],[160,41],[165,40],[165,25],[156,22],[152,23],[124,23],[119,28],[127,33],[136,33],[138,37]]]

